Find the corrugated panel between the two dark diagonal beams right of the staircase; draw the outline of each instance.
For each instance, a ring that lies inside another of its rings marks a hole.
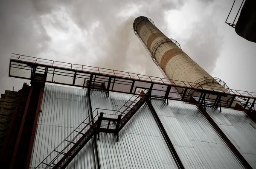
[[[159,99],[152,104],[185,168],[243,168],[195,105]]]

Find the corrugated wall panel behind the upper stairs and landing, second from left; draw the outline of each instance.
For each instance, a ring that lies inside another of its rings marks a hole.
[[[93,90],[92,107],[117,110],[131,98],[131,95]],[[133,118],[116,136],[100,133],[98,141],[102,169],[169,169],[177,168],[175,161],[146,106],[138,110]]]

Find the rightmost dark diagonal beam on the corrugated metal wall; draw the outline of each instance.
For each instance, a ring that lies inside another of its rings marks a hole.
[[[230,150],[234,153],[236,158],[241,162],[241,164],[246,168],[246,169],[252,169],[250,164],[245,160],[245,158],[241,155],[238,149],[234,146],[234,144],[229,140],[227,135],[224,134],[224,132],[221,130],[221,128],[216,124],[216,122],[212,119],[212,117],[207,113],[206,109],[203,108],[202,106],[198,107],[200,112],[207,118],[207,120],[210,122],[212,127],[218,132],[218,134],[223,138],[227,146],[230,148]]]

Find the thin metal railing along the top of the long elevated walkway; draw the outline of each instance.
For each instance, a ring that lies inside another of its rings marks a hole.
[[[195,88],[195,86],[198,85],[198,82],[183,82],[183,81],[174,80],[174,79],[165,79],[165,78],[154,77],[154,76],[146,76],[146,75],[129,73],[129,72],[119,71],[119,70],[111,70],[111,69],[98,68],[93,66],[58,62],[58,61],[53,61],[49,59],[41,59],[41,58],[36,58],[36,57],[26,56],[21,54],[13,54],[13,55],[14,55],[12,56],[13,59],[11,60],[18,60],[18,61],[22,61],[23,63],[29,63],[29,64],[34,63],[39,65],[47,65],[49,67],[52,66],[55,68],[65,68],[70,70],[78,70],[81,72],[84,71],[84,72],[90,72],[90,73],[99,73],[99,74],[105,74],[105,75],[116,76],[116,77],[124,77],[127,79],[161,83],[164,85],[175,85],[177,87],[180,86],[180,87]],[[17,68],[19,68],[19,65],[17,65]],[[215,80],[218,82],[220,79],[216,78]],[[203,90],[211,90],[211,91],[223,92],[227,94],[231,93],[238,96],[248,96],[248,97],[256,98],[256,93],[254,92],[230,89],[229,87],[227,87],[227,85],[224,85],[223,87],[216,87],[214,85],[207,84],[207,85],[204,85],[204,87],[201,86],[200,88]]]

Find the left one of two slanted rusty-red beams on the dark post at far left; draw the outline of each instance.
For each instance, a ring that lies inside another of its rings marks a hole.
[[[34,88],[34,85],[32,84],[31,87],[30,87],[28,99],[26,101],[26,107],[25,107],[25,110],[24,110],[24,113],[23,113],[21,124],[20,124],[20,130],[19,130],[19,133],[18,133],[18,136],[17,136],[15,148],[14,148],[13,153],[12,153],[12,160],[11,160],[10,169],[12,169],[14,167],[14,164],[15,164],[15,158],[16,158],[16,154],[17,154],[18,147],[19,147],[19,144],[20,144],[20,138],[21,138],[21,134],[22,134],[22,131],[23,131],[23,126],[24,126],[24,123],[25,123],[26,114],[27,114],[27,111],[28,111],[28,108],[29,108],[29,103],[30,103],[32,92],[33,92],[33,88]]]

